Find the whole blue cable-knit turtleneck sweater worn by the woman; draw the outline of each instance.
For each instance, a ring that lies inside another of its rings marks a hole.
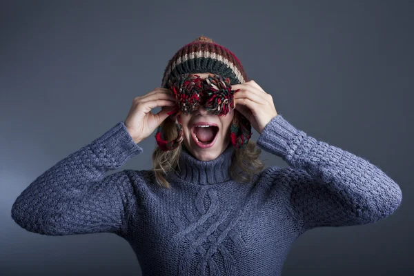
[[[12,218],[42,235],[115,233],[143,275],[281,275],[306,230],[374,223],[400,206],[400,187],[350,152],[317,141],[282,115],[257,146],[289,165],[242,184],[230,177],[231,144],[212,161],[181,152],[180,169],[155,183],[151,170],[120,168],[142,148],[122,121],[37,177]]]

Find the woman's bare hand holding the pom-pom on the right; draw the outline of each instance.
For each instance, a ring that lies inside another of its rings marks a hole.
[[[235,109],[250,121],[259,134],[262,134],[268,122],[277,116],[272,95],[264,92],[253,80],[235,84],[231,89],[240,89],[234,94]]]

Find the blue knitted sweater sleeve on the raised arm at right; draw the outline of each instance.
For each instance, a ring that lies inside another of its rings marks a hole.
[[[282,157],[286,207],[303,231],[368,224],[391,215],[402,191],[380,168],[346,150],[317,141],[275,116],[257,145]],[[281,173],[275,171],[274,173]]]

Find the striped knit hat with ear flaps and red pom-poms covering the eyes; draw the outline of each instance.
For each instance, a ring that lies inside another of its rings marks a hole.
[[[206,79],[194,76],[206,72],[211,73]],[[179,108],[168,113],[170,117],[166,119],[175,122],[177,137],[168,141],[161,124],[155,135],[159,148],[168,151],[180,146],[184,132],[179,114],[182,110],[193,112],[200,103],[204,104],[201,98],[207,99],[206,109],[213,111],[213,114],[221,116],[230,110],[235,111],[230,126],[230,141],[235,148],[244,148],[251,137],[251,125],[242,113],[234,109],[233,95],[238,90],[230,90],[230,86],[246,81],[247,75],[239,59],[212,39],[201,36],[180,48],[168,61],[161,82],[161,87],[170,89],[179,100]]]

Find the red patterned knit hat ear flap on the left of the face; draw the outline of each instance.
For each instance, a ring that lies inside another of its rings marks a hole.
[[[183,135],[184,130],[181,124],[181,117],[177,115],[175,119],[167,117],[167,119],[165,119],[163,123],[158,126],[155,139],[157,140],[157,144],[162,151],[168,151],[179,147],[183,141]]]

